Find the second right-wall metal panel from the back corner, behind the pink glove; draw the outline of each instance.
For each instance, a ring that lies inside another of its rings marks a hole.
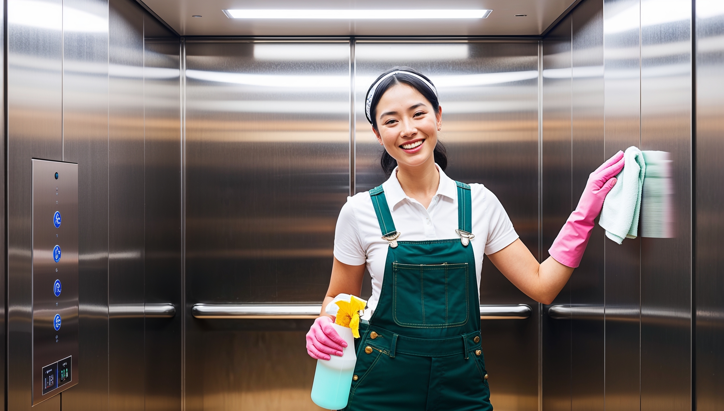
[[[586,0],[573,10],[571,82],[572,206],[589,174],[605,161],[603,141],[603,1]],[[604,230],[594,225],[581,265],[568,281],[572,305],[603,305]],[[602,411],[604,399],[604,323],[571,321],[571,410]]]

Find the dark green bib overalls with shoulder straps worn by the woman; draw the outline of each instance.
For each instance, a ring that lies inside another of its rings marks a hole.
[[[490,411],[470,186],[458,185],[459,239],[397,241],[382,186],[370,190],[387,263],[379,303],[355,340],[348,411]]]

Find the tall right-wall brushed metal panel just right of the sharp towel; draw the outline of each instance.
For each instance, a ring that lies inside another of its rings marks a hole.
[[[669,7],[662,20],[641,1],[641,149],[670,153],[675,218],[674,238],[641,238],[641,411],[690,410],[692,395],[691,1]]]

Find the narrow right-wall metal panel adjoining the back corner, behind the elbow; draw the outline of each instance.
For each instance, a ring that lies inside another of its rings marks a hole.
[[[572,195],[572,17],[569,15],[543,40],[542,55],[542,192],[541,260],[573,211]],[[552,302],[571,305],[566,284]],[[571,322],[542,317],[542,406],[571,410]]]

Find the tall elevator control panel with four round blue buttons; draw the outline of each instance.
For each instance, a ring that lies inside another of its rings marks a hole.
[[[33,158],[33,405],[78,384],[78,165]]]

